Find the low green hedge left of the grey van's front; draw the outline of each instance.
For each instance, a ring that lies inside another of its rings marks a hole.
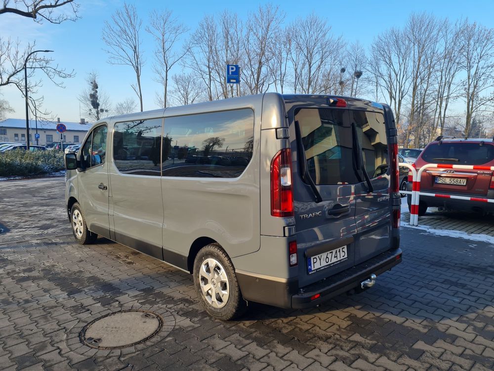
[[[0,177],[34,176],[65,170],[64,153],[16,149],[0,153]]]

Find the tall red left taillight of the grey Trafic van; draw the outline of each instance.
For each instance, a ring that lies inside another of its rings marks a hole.
[[[291,151],[284,148],[271,161],[271,215],[293,216]]]

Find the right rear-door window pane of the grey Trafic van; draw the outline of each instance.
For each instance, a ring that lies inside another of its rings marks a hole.
[[[386,126],[384,116],[377,112],[349,111],[350,122],[357,126],[364,162],[369,177],[375,178],[387,171]],[[382,171],[384,169],[384,171]]]

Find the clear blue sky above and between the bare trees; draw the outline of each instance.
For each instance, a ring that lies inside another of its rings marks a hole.
[[[56,63],[68,70],[74,69],[76,77],[65,81],[66,88],[55,87],[51,82],[44,81],[40,95],[44,95],[45,109],[52,111],[62,121],[79,121],[79,101],[77,96],[86,88],[87,73],[95,70],[99,73],[100,89],[111,96],[115,104],[127,97],[137,96],[130,84],[134,82],[134,72],[129,66],[110,65],[103,51],[101,30],[104,21],[110,19],[114,11],[121,7],[123,1],[117,0],[82,0],[80,15],[77,22],[65,22],[60,25],[44,23],[36,24],[27,18],[6,14],[1,16],[0,34],[2,38],[10,36],[21,41],[36,40],[40,49],[52,49],[50,53]],[[171,9],[174,15],[193,31],[206,14],[217,14],[224,9],[235,11],[242,19],[254,11],[258,4],[252,1],[139,1],[132,2],[139,15],[143,18],[143,26],[148,14],[153,9]],[[493,0],[415,0],[415,1],[272,1],[279,4],[287,14],[285,23],[290,23],[298,16],[305,16],[316,11],[326,17],[335,35],[342,35],[349,43],[360,41],[365,47],[380,32],[393,27],[402,26],[410,13],[428,11],[438,17],[451,20],[466,18],[494,27]],[[152,80],[153,43],[147,33],[143,32],[142,49],[146,64],[142,73],[144,110],[158,108],[155,103],[155,92],[160,86]],[[181,71],[176,66],[171,73]],[[41,77],[41,74],[37,75]],[[15,113],[8,117],[24,117],[24,100],[13,87],[2,87],[2,98],[8,100]],[[84,117],[84,115],[82,115]]]

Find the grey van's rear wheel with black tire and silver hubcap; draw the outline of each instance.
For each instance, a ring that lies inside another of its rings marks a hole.
[[[214,261],[214,264],[219,263],[219,266],[214,265],[212,267],[213,272],[211,272],[208,261]],[[207,269],[204,270],[203,274],[201,274],[202,266]],[[208,275],[211,277],[210,281],[206,277]],[[246,312],[247,303],[242,297],[232,261],[220,245],[213,243],[199,251],[194,260],[193,276],[197,296],[211,317],[228,321],[240,317]],[[212,287],[203,292],[203,287],[206,285]],[[220,292],[227,292],[227,299],[223,301]]]

